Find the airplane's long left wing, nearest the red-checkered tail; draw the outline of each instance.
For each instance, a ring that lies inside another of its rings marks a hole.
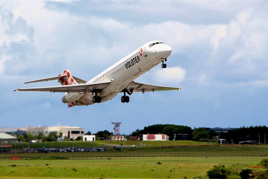
[[[48,91],[48,92],[94,92],[106,88],[112,81],[100,81],[95,83],[71,84],[52,87],[18,88],[14,91]]]

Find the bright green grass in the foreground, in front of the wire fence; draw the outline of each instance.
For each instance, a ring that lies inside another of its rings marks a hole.
[[[0,177],[60,178],[207,178],[206,171],[223,164],[237,171],[255,166],[261,158],[130,158],[92,160],[0,161]],[[156,163],[161,162],[158,165]],[[12,167],[11,165],[16,165]],[[263,170],[259,168],[251,168]],[[77,171],[75,171],[77,170]]]

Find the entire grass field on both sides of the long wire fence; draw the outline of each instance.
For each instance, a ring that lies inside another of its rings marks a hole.
[[[81,145],[80,142],[76,144]],[[21,160],[12,161],[12,155],[21,156]],[[49,156],[69,160],[30,160]],[[0,154],[0,178],[207,178],[206,172],[218,164],[237,172],[247,168],[264,170],[255,166],[267,156],[268,146],[264,145],[127,147],[121,152],[109,148],[104,152]],[[156,164],[158,162],[162,164]]]

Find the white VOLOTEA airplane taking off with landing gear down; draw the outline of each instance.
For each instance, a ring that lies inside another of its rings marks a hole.
[[[89,81],[72,76],[69,70],[65,70],[55,77],[24,83],[58,80],[62,86],[18,88],[14,91],[65,92],[62,102],[67,103],[68,107],[73,107],[105,102],[114,98],[119,92],[124,93],[121,102],[128,103],[130,98],[126,93],[131,95],[133,92],[181,90],[180,87],[163,87],[133,81],[160,63],[162,68],[166,68],[164,62],[167,61],[171,51],[171,47],[162,41],[150,41]]]

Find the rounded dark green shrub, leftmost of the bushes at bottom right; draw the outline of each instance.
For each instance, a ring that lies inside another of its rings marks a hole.
[[[227,178],[231,172],[224,165],[214,165],[212,169],[207,171],[208,178]]]

